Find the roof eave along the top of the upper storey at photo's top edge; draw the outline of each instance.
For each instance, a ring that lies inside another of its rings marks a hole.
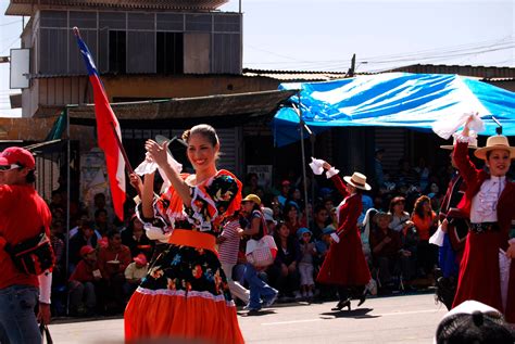
[[[52,7],[214,11],[227,2],[228,0],[11,0],[5,15],[30,16],[37,9],[49,9]]]

